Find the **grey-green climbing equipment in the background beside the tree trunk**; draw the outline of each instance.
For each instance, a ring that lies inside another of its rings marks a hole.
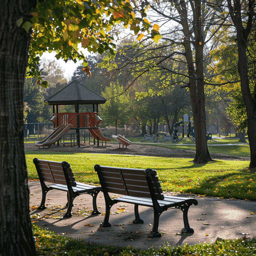
[[[163,139],[162,140],[157,140],[155,141],[155,135],[144,135],[144,140],[141,142],[145,142],[147,140],[151,140],[152,142],[164,142],[166,140],[169,140],[172,143],[177,143],[179,141],[181,141],[184,138],[184,134],[187,134],[186,137],[186,142],[187,139],[189,138],[190,140],[192,140],[193,142],[195,142],[195,127],[194,127],[194,122],[191,120],[192,117],[192,112],[189,113],[189,115],[185,114],[182,117],[182,121],[175,123],[173,126],[173,131],[171,135],[163,135]],[[181,135],[178,132],[178,127],[182,125],[182,136],[181,138],[179,138],[179,136]],[[210,136],[210,135],[209,135]]]

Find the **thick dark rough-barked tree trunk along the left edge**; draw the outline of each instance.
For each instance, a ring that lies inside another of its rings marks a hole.
[[[29,218],[29,189],[23,145],[23,86],[30,34],[30,0],[3,0],[0,8],[0,255],[36,255]]]

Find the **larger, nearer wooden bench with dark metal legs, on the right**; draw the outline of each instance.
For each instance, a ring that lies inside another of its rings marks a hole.
[[[158,232],[160,214],[170,208],[178,208],[183,212],[184,228],[182,233],[193,233],[189,227],[188,209],[190,205],[197,205],[197,200],[176,196],[164,196],[158,176],[152,169],[129,169],[109,166],[94,166],[98,173],[100,184],[105,198],[106,213],[100,227],[110,227],[110,208],[118,202],[134,204],[135,220],[133,223],[143,223],[140,219],[138,206],[150,206],[154,209],[153,229],[149,237],[161,237]],[[111,199],[108,193],[124,195]]]

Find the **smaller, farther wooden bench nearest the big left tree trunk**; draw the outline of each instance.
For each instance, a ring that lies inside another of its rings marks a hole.
[[[42,200],[41,205],[38,207],[38,209],[46,208],[45,199],[47,192],[52,189],[58,189],[67,191],[68,202],[66,206],[68,207],[68,209],[64,217],[72,217],[71,210],[73,207],[73,201],[77,196],[81,194],[90,194],[92,196],[92,214],[100,214],[100,212],[97,210],[96,198],[98,193],[102,191],[101,187],[76,182],[69,163],[65,161],[54,162],[34,158],[33,162],[36,166],[36,170],[42,187]],[[53,184],[47,186],[45,182],[50,182]]]

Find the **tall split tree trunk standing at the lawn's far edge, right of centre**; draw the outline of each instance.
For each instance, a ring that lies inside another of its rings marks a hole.
[[[188,66],[189,75],[189,92],[193,111],[193,120],[195,126],[195,140],[196,140],[196,156],[193,160],[195,163],[206,163],[212,161],[206,137],[206,117],[205,117],[205,103],[204,103],[204,73],[203,73],[203,37],[201,27],[201,1],[196,0],[194,5],[194,33],[195,33],[195,51],[196,51],[196,68],[194,68],[194,60],[191,49],[191,30],[188,25],[187,9],[185,1],[180,1],[182,8],[183,19],[183,34],[185,35],[183,45],[185,49],[185,58]],[[200,43],[201,42],[201,43]]]

